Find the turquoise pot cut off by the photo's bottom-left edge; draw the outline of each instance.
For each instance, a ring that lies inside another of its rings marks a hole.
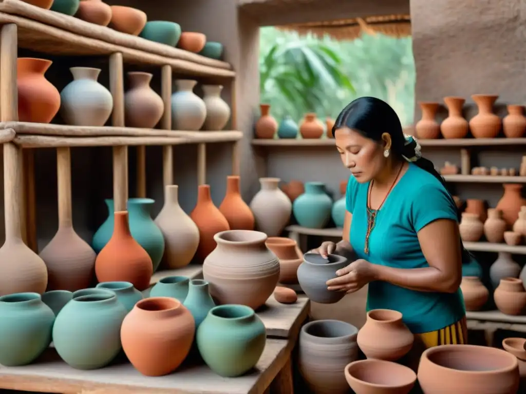
[[[27,365],[51,343],[55,314],[38,293],[0,297],[0,364]]]

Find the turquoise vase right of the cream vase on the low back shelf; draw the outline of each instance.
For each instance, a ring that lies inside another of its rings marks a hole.
[[[305,183],[305,193],[292,203],[292,212],[302,227],[323,229],[330,219],[332,200],[322,182]]]

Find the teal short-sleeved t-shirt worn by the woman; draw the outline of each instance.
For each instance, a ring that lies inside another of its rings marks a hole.
[[[359,183],[351,175],[346,208],[352,213],[350,242],[358,258],[395,268],[429,267],[417,233],[438,219],[458,221],[457,208],[446,188],[429,172],[409,163],[377,213],[366,255],[368,189],[369,182]],[[466,314],[460,289],[456,293],[419,292],[382,281],[369,284],[367,310],[371,309],[398,310],[413,334],[447,327]]]

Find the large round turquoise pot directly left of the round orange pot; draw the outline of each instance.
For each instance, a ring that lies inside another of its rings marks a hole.
[[[109,290],[73,297],[53,326],[58,355],[76,369],[105,367],[122,349],[120,326],[126,315],[126,308]]]

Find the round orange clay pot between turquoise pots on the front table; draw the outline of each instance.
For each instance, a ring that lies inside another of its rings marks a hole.
[[[179,368],[194,336],[195,323],[189,310],[177,299],[167,297],[139,301],[120,328],[126,357],[145,376],[168,375]]]

